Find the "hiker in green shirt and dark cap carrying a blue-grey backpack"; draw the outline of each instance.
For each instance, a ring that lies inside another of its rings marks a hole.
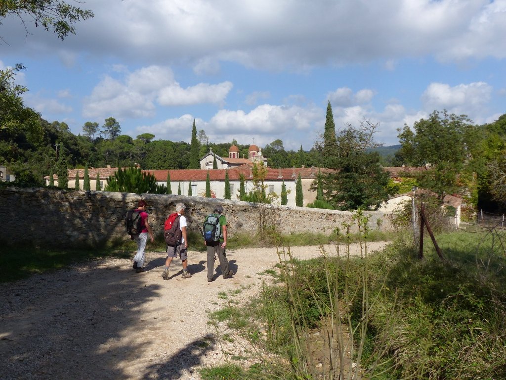
[[[222,214],[223,207],[218,205],[213,210],[213,213],[208,215],[204,221],[204,244],[207,246],[207,282],[214,280],[215,254],[218,255],[218,259],[220,260],[223,278],[229,278],[234,274],[228,266],[225,254],[225,247],[227,246],[227,219]],[[212,225],[213,223],[215,226]],[[206,234],[206,230],[209,230],[207,226],[214,229],[212,234]]]

